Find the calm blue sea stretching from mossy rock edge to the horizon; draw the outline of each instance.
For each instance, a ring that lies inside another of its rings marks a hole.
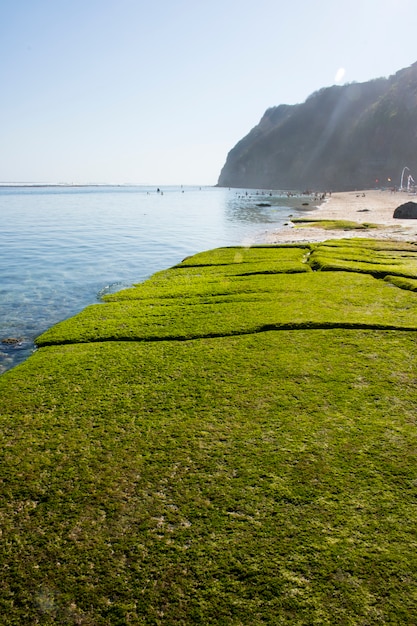
[[[301,206],[280,192],[160,189],[0,186],[0,373],[101,295],[190,254],[259,242]]]

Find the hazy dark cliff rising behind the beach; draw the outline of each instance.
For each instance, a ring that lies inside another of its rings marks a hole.
[[[229,152],[218,185],[369,189],[399,185],[405,166],[417,181],[417,63],[268,109]]]

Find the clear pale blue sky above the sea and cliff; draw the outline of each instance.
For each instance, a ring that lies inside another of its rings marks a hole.
[[[278,104],[417,61],[416,0],[0,0],[0,181],[215,184]]]

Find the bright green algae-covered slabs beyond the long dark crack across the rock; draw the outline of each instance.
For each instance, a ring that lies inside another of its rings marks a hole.
[[[293,272],[286,265],[289,256]],[[260,257],[280,272],[271,274]],[[416,327],[415,296],[392,292],[386,282],[373,278],[417,276],[417,252],[407,246],[395,251],[389,245],[368,249],[358,242],[308,249],[223,248],[213,251],[213,265],[209,259],[210,252],[198,254],[143,285],[107,297],[105,304],[87,307],[41,335],[38,345],[184,340],[278,328]],[[236,267],[245,275],[231,273]]]

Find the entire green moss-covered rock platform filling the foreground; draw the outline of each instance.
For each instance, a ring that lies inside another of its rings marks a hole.
[[[0,378],[2,624],[414,624],[417,246],[223,248]]]

